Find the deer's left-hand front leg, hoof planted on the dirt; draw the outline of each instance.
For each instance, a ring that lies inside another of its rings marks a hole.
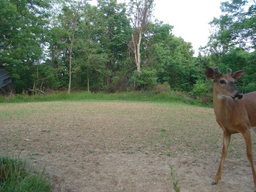
[[[231,138],[231,135],[229,133],[223,132],[223,147],[222,147],[221,162],[220,162],[217,174],[215,176],[215,179],[211,183],[212,185],[217,184],[219,182],[220,178],[221,178],[221,172],[222,172],[222,168],[223,168],[225,158],[227,156],[227,151],[228,151],[228,147],[229,147],[229,143],[230,143],[230,138]]]

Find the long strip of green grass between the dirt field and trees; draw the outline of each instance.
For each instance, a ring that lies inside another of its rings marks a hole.
[[[0,96],[0,103],[15,103],[15,102],[41,102],[41,101],[150,101],[150,102],[183,102],[186,104],[203,105],[199,101],[190,98],[189,96],[170,91],[169,93],[152,93],[152,92],[124,92],[124,93],[88,93],[88,92],[66,92],[53,93],[47,95],[13,95],[9,97]]]

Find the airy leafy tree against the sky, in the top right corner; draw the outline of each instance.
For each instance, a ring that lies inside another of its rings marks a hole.
[[[233,48],[255,50],[256,46],[256,3],[250,0],[230,0],[221,3],[224,13],[214,18],[212,32],[206,48],[210,53],[227,53]],[[205,49],[205,51],[207,51]]]

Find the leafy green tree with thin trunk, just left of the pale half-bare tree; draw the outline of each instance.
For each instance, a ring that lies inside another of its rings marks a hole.
[[[104,31],[101,11],[95,6],[87,4],[82,8],[82,19],[78,25],[76,39],[76,68],[83,75],[86,71],[87,91],[90,92],[90,77],[92,73],[105,74],[105,63],[108,54],[102,48],[101,36]],[[77,74],[78,75],[78,74]],[[95,81],[99,80],[99,76]]]

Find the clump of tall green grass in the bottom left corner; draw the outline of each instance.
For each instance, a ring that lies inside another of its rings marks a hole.
[[[0,191],[49,191],[50,182],[44,176],[45,170],[32,170],[27,161],[19,158],[0,158]]]

